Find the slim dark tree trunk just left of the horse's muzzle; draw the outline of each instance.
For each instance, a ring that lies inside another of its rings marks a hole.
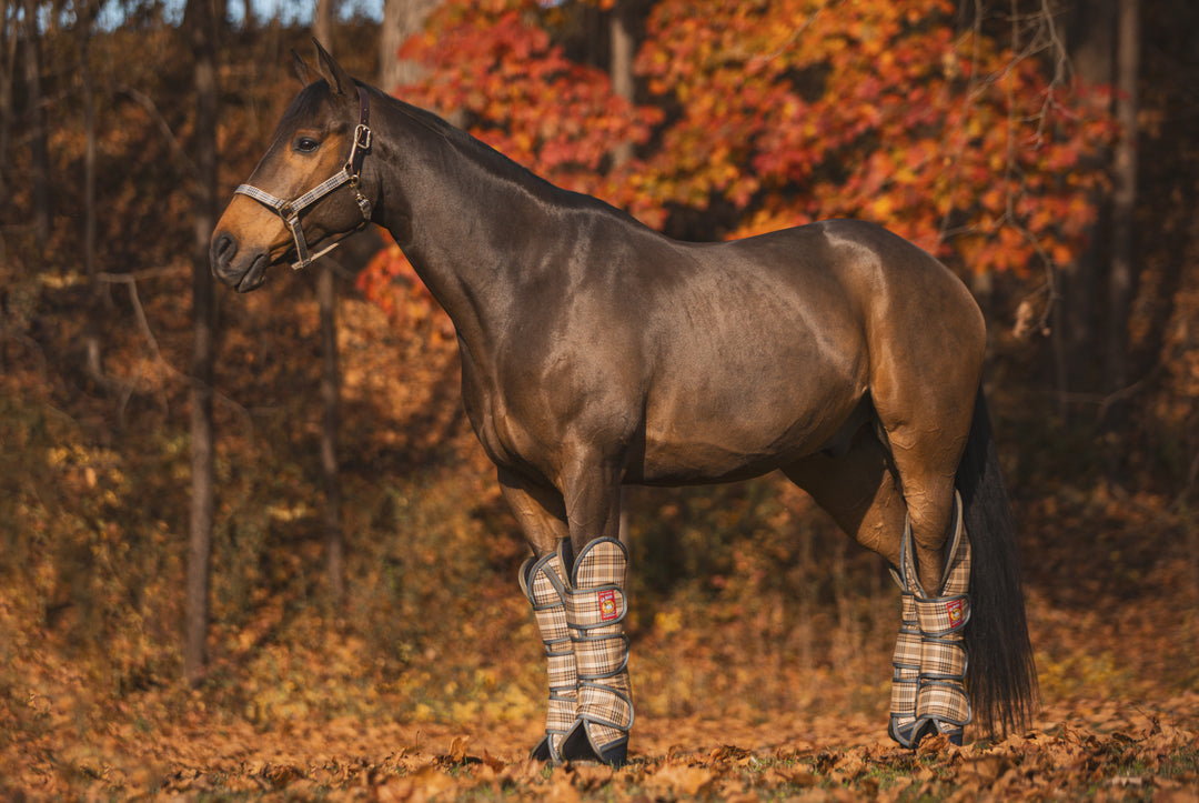
[[[215,510],[212,376],[216,359],[216,305],[209,269],[209,238],[217,221],[217,20],[222,0],[188,0],[183,30],[194,60],[195,156],[194,240],[192,245],[192,509],[187,553],[183,676],[204,678],[207,663],[209,586]]]

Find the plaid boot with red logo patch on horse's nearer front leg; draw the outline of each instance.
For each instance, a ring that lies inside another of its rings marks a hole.
[[[564,547],[566,543],[564,541]],[[565,562],[564,562],[565,565]],[[568,761],[627,762],[633,726],[625,635],[625,574],[628,552],[614,538],[600,538],[574,561],[566,587],[566,617],[578,667],[577,719],[562,741]]]

